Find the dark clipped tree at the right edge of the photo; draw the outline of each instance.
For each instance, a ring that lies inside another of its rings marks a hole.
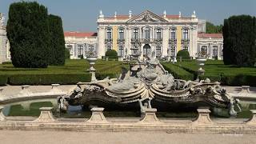
[[[255,17],[232,16],[224,20],[223,61],[227,65],[254,66],[256,62]]]

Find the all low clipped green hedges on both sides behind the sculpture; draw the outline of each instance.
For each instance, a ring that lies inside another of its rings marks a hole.
[[[190,62],[162,62],[162,65],[174,78],[194,80],[197,77],[198,65],[196,61]],[[96,78],[107,76],[118,78],[122,66],[118,61],[98,60],[95,64]],[[89,63],[85,60],[66,60],[65,66],[49,66],[40,68],[15,68],[12,64],[0,65],[0,84],[5,85],[49,85],[51,83],[76,84],[77,82],[90,82]],[[206,73],[202,79],[210,78],[212,81],[222,82],[229,86],[256,86],[256,67],[225,66],[222,61],[207,60],[204,66]]]

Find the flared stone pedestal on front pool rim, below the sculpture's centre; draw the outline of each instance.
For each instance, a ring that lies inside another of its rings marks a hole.
[[[160,122],[158,117],[155,115],[157,112],[157,109],[145,109],[145,114],[143,114],[143,118],[140,122],[146,122],[146,123],[154,123],[154,122]]]

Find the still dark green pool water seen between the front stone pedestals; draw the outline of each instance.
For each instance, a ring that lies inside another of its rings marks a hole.
[[[54,107],[53,114],[55,118],[90,118],[90,110],[83,110],[82,106],[70,106],[67,113],[59,113],[58,107],[53,106],[51,102],[34,102],[30,106],[24,108],[22,105],[6,106],[3,109],[3,114],[6,116],[33,116],[38,117],[40,107]],[[242,103],[242,112],[237,118],[250,118],[250,110],[256,110],[256,104]],[[229,118],[228,110],[214,108],[211,109],[211,117],[214,118]],[[106,117],[140,117],[140,111],[134,110],[104,110]],[[189,110],[169,110],[158,111],[158,118],[195,118],[197,116],[196,108]]]

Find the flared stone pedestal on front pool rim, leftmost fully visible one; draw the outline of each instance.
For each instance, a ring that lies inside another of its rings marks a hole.
[[[53,114],[51,113],[52,107],[41,107],[39,110],[41,110],[41,114],[39,117],[34,120],[34,122],[54,122],[56,121],[54,119]]]

